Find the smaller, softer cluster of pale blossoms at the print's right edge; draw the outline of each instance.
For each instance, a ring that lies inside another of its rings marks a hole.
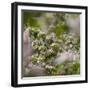
[[[73,51],[74,53],[80,53],[80,37],[75,36],[73,33],[64,33],[60,35],[61,51]]]

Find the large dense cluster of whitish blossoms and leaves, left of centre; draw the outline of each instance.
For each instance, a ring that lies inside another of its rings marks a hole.
[[[49,60],[57,56],[59,43],[55,35],[47,34],[41,30],[31,29],[30,38],[33,49],[32,62],[34,64],[48,63]]]

